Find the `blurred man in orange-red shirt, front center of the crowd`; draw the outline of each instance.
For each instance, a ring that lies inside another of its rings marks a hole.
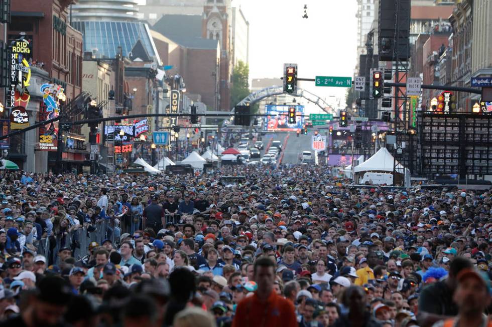
[[[257,259],[254,274],[258,289],[239,302],[232,327],[297,327],[294,304],[273,290],[275,263],[272,259]]]

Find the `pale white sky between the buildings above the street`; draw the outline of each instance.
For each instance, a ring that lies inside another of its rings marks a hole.
[[[307,5],[308,19],[303,19]],[[250,79],[281,77],[284,63],[298,77],[352,76],[356,63],[356,0],[232,0],[250,23]],[[346,88],[303,88],[326,100]],[[330,97],[331,96],[331,97]]]

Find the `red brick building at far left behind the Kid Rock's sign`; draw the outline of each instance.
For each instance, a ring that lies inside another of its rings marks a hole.
[[[66,103],[77,97],[82,86],[82,36],[70,27],[67,0],[25,0],[12,2],[12,22],[8,25],[9,41],[25,35],[32,40],[32,71],[34,79],[28,90],[31,100],[27,111],[30,124],[39,121],[42,83],[53,83],[64,88]],[[72,120],[78,117],[71,117]],[[27,171],[46,172],[54,167],[56,151],[39,149],[38,130],[11,138],[9,159]],[[80,137],[80,127],[73,127],[65,140]],[[85,146],[67,148],[63,153],[67,168],[81,169],[85,160]],[[77,146],[76,145],[76,146]],[[36,149],[33,151],[33,149]]]

